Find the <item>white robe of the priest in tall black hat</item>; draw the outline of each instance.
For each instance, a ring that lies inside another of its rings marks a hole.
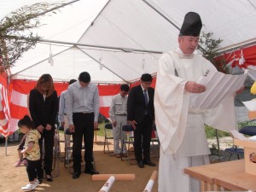
[[[190,93],[184,85],[198,82],[207,70],[217,71],[201,55],[184,55],[179,48],[160,57],[154,92],[160,138],[159,192],[199,191],[199,183],[183,169],[209,163],[204,124],[223,131],[236,128],[234,97],[226,98],[214,109],[189,108]]]

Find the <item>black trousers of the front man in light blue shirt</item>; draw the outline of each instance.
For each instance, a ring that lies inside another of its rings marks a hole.
[[[81,171],[82,143],[84,137],[85,168],[92,169],[93,165],[93,137],[94,113],[73,113],[73,171]]]

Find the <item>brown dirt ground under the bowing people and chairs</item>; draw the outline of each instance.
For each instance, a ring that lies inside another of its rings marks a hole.
[[[18,160],[17,146],[19,143],[9,143],[7,155],[5,154],[5,143],[0,143],[0,191],[17,192],[21,187],[28,183],[25,166],[15,167]],[[61,148],[63,144],[61,143]],[[63,151],[63,150],[61,150]],[[102,174],[126,174],[135,173],[136,178],[131,181],[115,181],[111,192],[139,192],[143,191],[148,183],[152,172],[158,171],[158,166],[145,166],[141,169],[137,165],[130,165],[128,161],[122,161],[119,158],[109,156],[103,153],[103,137],[97,136],[97,142],[94,145],[94,155],[96,160],[96,170]],[[158,159],[152,158],[152,161],[158,165]],[[94,192],[102,189],[103,184],[107,181],[92,181],[89,174],[82,172],[78,179],[73,179],[63,162],[60,163],[60,175],[54,177],[54,182],[49,183],[45,179],[42,184],[34,191],[72,191],[72,192]],[[84,168],[84,167],[82,167]],[[54,174],[54,172],[53,172]],[[154,183],[152,192],[157,191],[157,182]]]

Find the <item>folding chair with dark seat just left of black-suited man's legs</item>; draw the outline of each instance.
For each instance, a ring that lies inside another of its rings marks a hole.
[[[131,125],[122,125],[122,131],[125,131],[126,133],[126,139],[122,138],[122,142],[121,142],[121,160],[129,160],[129,163],[135,164],[135,163],[131,163],[131,160],[136,160],[134,157],[134,149],[131,150],[131,146],[133,148],[133,143],[134,143],[134,137],[133,137],[133,127]],[[124,145],[126,145],[127,147],[127,158],[124,158],[124,152],[123,152],[123,148]],[[133,154],[133,156],[132,156]],[[137,162],[136,162],[137,164]]]

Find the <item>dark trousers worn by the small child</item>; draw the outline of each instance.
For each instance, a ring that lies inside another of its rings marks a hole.
[[[44,171],[41,160],[27,160],[26,172],[28,180],[32,182],[35,178],[43,179]]]

